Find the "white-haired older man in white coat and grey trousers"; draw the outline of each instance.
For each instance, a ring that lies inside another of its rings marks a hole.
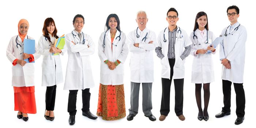
[[[151,90],[154,82],[153,50],[156,47],[157,39],[155,33],[146,28],[147,21],[146,12],[139,11],[136,18],[138,27],[131,31],[127,38],[131,52],[131,108],[129,108],[129,115],[127,116],[128,121],[133,120],[133,117],[138,114],[140,83],[142,83],[143,89],[143,113],[151,121],[156,120],[151,112]]]

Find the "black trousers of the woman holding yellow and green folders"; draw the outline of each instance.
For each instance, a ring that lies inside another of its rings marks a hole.
[[[56,97],[56,85],[46,87],[45,92],[45,109],[48,111],[53,111],[55,106]]]

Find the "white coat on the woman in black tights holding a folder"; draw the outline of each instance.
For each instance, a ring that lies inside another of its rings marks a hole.
[[[191,55],[194,56],[193,64],[192,64],[192,75],[191,82],[192,83],[211,83],[214,82],[214,68],[211,54],[215,54],[215,52],[206,53],[206,54],[196,54],[198,49],[207,49],[209,45],[211,45],[212,41],[215,40],[215,36],[212,31],[208,31],[208,43],[205,44],[207,40],[207,30],[204,29],[203,37],[200,34],[199,29],[196,29],[194,36],[193,32],[190,34],[190,39],[193,43]],[[194,36],[194,39],[193,39]],[[198,42],[197,42],[198,41]],[[200,44],[200,45],[199,45]]]

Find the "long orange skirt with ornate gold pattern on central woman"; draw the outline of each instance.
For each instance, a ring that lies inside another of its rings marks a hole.
[[[124,84],[99,84],[97,116],[103,120],[119,120],[126,116],[124,101]]]

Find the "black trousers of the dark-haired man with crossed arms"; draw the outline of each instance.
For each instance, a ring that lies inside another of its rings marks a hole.
[[[76,115],[76,95],[78,90],[69,90],[68,95],[68,112],[69,115],[75,116]],[[83,112],[90,111],[90,89],[82,90],[82,101],[83,101]]]

